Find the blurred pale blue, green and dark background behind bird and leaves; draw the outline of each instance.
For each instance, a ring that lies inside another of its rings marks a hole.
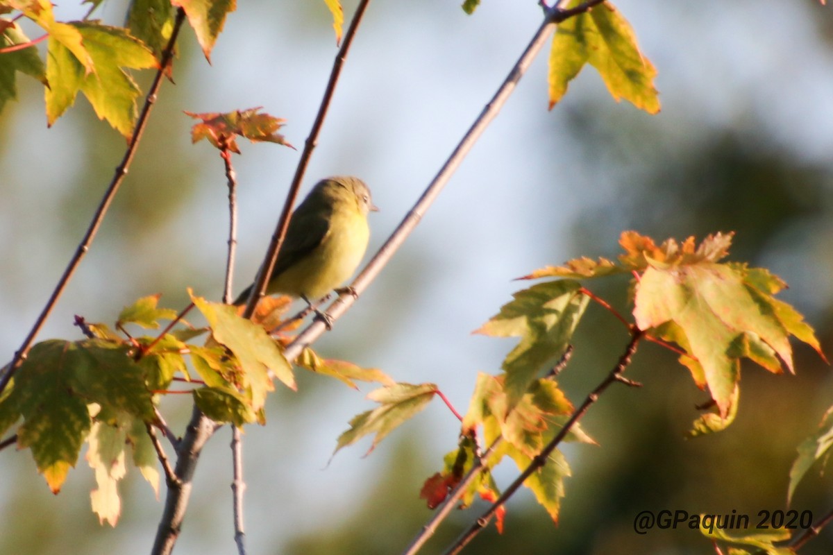
[[[347,16],[356,2],[345,2]],[[833,12],[818,2],[636,2],[616,6],[656,65],[662,111],[616,104],[594,70],[546,111],[546,52],[523,79],[414,235],[332,334],[321,354],[431,381],[464,411],[476,373],[496,373],[510,340],[472,336],[523,285],[518,275],[580,255],[619,252],[622,230],[662,240],[736,232],[731,259],[766,266],[831,352],[833,305]],[[124,3],[100,15],[119,22]],[[80,17],[75,6],[58,16]],[[540,22],[535,2],[490,0],[473,17],[458,2],[372,2],[307,173],[348,173],[371,186],[371,249],[402,219],[506,76]],[[37,36],[37,32],[30,32]],[[191,146],[188,111],[264,107],[286,117],[301,146],[336,46],[323,2],[242,2],[208,65],[186,32],[125,186],[91,253],[40,339],[79,336],[72,315],[115,320],[138,296],[185,304],[186,288],[219,299],[227,233],[222,161]],[[147,75],[139,80],[147,85]],[[20,77],[20,102],[0,114],[0,347],[11,358],[66,265],[125,143],[83,99],[47,129],[42,88]],[[262,257],[298,153],[242,145],[237,289]],[[305,190],[306,191],[306,190]],[[592,282],[625,306],[624,282]],[[615,364],[621,325],[591,306],[561,384],[578,404]],[[721,434],[686,439],[696,389],[676,357],[643,344],[628,375],[587,414],[598,446],[568,445],[561,518],[531,494],[508,505],[506,532],[489,528],[466,553],[713,553],[680,528],[637,535],[642,510],[747,513],[786,509],[796,447],[833,404],[830,369],[796,344],[796,375],[742,369],[740,412]],[[431,513],[422,481],[455,447],[458,425],[434,403],[371,455],[369,444],[330,461],[364,394],[302,374],[279,391],[266,427],[245,435],[250,553],[398,553]],[[187,399],[163,407],[182,429]],[[207,447],[176,553],[234,553],[230,434]],[[813,468],[791,508],[833,508]],[[496,472],[501,485],[516,469]],[[100,527],[84,460],[53,497],[29,453],[0,453],[0,553],[148,553],[162,502],[132,470],[122,520]],[[476,515],[455,513],[424,553],[440,552]],[[113,546],[117,546],[114,548]],[[831,553],[826,530],[801,553]]]

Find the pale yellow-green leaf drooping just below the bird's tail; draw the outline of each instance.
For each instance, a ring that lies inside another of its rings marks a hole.
[[[242,369],[242,387],[249,391],[252,409],[262,409],[266,395],[274,389],[267,369],[271,369],[290,389],[297,389],[292,367],[266,331],[237,315],[234,306],[211,303],[191,294],[191,300],[211,326],[212,335],[237,357]]]

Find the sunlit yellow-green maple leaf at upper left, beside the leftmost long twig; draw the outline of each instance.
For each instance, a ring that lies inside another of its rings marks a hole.
[[[140,90],[122,67],[156,67],[153,53],[119,27],[97,22],[52,24],[47,47],[47,123],[75,102],[80,91],[99,119],[130,136]]]

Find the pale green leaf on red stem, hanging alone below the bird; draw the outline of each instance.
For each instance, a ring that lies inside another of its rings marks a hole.
[[[338,436],[333,455],[342,447],[355,444],[367,434],[375,434],[373,444],[365,453],[369,454],[387,434],[425,409],[435,394],[434,384],[394,384],[375,389],[367,398],[376,401],[380,406],[358,414],[350,421],[350,429]]]

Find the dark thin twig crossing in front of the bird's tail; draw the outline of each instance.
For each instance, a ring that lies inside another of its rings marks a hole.
[[[364,12],[367,10],[367,5],[369,3],[370,0],[362,0],[359,2],[359,5],[356,7],[356,12],[353,14],[352,21],[350,22],[350,27],[347,28],[347,32],[344,34],[342,47],[338,49],[336,59],[332,64],[330,79],[327,82],[327,88],[324,90],[324,97],[322,98],[321,106],[318,107],[318,113],[315,121],[312,123],[312,129],[310,130],[309,136],[307,136],[307,141],[304,141],[304,149],[301,151],[301,158],[298,160],[298,165],[295,169],[295,176],[292,177],[292,184],[289,186],[289,191],[287,192],[287,201],[284,203],[281,216],[277,220],[275,232],[272,234],[272,241],[269,243],[269,248],[267,249],[267,254],[263,259],[261,269],[257,272],[257,278],[254,281],[252,292],[249,294],[249,299],[246,303],[246,310],[243,312],[244,318],[252,317],[255,312],[257,301],[261,299],[266,291],[267,281],[269,280],[269,276],[272,275],[272,270],[274,269],[277,261],[277,253],[281,250],[284,237],[287,236],[287,229],[289,229],[289,216],[292,213],[292,206],[295,204],[298,191],[301,189],[301,182],[303,181],[304,173],[307,171],[312,151],[318,144],[318,134],[321,132],[321,128],[324,125],[324,118],[327,116],[327,111],[330,108],[332,95],[336,92],[338,77],[342,73],[344,61],[347,59],[347,52],[350,51],[353,37],[356,36],[359,23],[362,22],[362,17],[364,16]]]

